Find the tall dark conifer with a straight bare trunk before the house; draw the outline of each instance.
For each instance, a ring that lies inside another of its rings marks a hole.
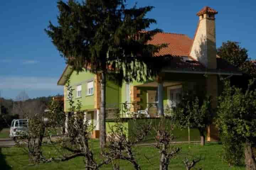
[[[145,15],[152,6],[130,9],[125,0],[58,1],[58,26],[46,33],[66,62],[77,72],[101,74],[100,145],[106,143],[106,75],[124,75],[127,81],[149,78],[158,70],[155,52],[166,45],[147,44],[159,29],[144,31],[155,19]]]

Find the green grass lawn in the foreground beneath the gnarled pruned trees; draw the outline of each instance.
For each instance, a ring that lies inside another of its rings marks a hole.
[[[94,147],[94,153],[96,160],[99,160],[99,145],[98,141],[92,143]],[[232,167],[230,168],[228,164],[224,163],[219,157],[222,145],[217,143],[207,143],[206,146],[202,147],[198,144],[179,144],[181,147],[181,153],[178,157],[171,160],[170,169],[184,170],[185,167],[182,164],[182,159],[186,157],[186,154],[190,155],[201,155],[204,160],[198,163],[198,168],[202,167],[204,170],[244,170],[244,167]],[[44,147],[44,155],[53,154],[54,148]],[[137,147],[135,148],[136,156],[141,168],[144,170],[148,169],[158,169],[159,166],[159,154],[158,150],[154,147]],[[145,158],[149,158],[147,160]],[[132,166],[124,161],[121,161],[121,169],[132,170]],[[46,163],[36,166],[28,165],[28,156],[22,152],[20,148],[1,148],[0,150],[0,169],[3,170],[80,170],[83,169],[82,158],[75,158],[69,160],[68,162],[61,163]],[[102,169],[111,170],[111,165],[104,166]]]

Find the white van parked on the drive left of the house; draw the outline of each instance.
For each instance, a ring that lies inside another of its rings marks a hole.
[[[14,119],[11,123],[10,138],[15,139],[28,131],[28,119]]]

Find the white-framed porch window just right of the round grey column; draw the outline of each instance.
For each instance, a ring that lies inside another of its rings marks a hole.
[[[182,88],[181,86],[169,87],[168,88],[168,105],[176,107],[182,99]]]

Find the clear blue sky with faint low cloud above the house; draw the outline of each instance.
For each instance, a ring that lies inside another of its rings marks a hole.
[[[223,41],[241,42],[256,59],[256,1],[170,1],[127,0],[128,7],[155,6],[148,17],[155,18],[164,32],[187,34],[193,38],[196,13],[210,6],[216,16],[217,47]],[[0,5],[0,91],[5,98],[15,98],[25,90],[31,98],[63,94],[57,81],[65,61],[44,33],[48,21],[57,23],[57,0],[5,0]]]

